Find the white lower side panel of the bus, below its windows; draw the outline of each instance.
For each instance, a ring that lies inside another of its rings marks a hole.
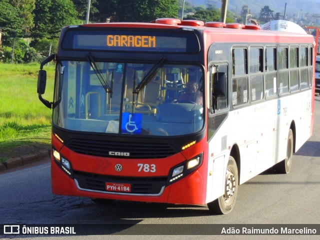
[[[291,123],[297,150],[311,134],[310,89],[231,110],[208,143],[206,202],[223,194],[233,146],[239,149],[241,184],[285,158]]]

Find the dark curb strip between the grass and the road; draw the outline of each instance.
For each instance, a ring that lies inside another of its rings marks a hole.
[[[42,160],[43,158],[49,155],[50,155],[49,150],[43,150],[34,154],[27,154],[21,157],[13,157],[13,158],[7,159],[5,162],[0,163],[0,172],[7,169],[12,169],[18,166],[23,166],[32,162]]]

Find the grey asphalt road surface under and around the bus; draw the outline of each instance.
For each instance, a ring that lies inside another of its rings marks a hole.
[[[276,174],[266,171],[240,185],[236,205],[232,212],[226,215],[211,215],[207,207],[201,205],[126,201],[101,205],[84,197],[53,195],[50,186],[50,163],[49,159],[45,159],[0,173],[0,227],[3,224],[107,224],[103,225],[106,228],[104,235],[59,236],[59,239],[181,238],[178,235],[163,233],[174,231],[174,229],[177,232],[182,230],[189,234],[183,235],[184,239],[271,239],[275,237],[276,239],[319,239],[319,235],[216,235],[213,237],[206,235],[207,232],[203,235],[198,233],[200,227],[214,228],[215,224],[235,228],[241,226],[237,224],[280,224],[280,226],[317,224],[319,229],[319,131],[320,97],[316,96],[313,135],[294,154],[290,173]],[[112,228],[109,224],[113,223],[118,225],[113,225],[115,227]],[[134,227],[140,226],[139,224],[146,225],[143,228],[136,228],[138,229],[136,233],[132,231]],[[153,224],[163,225],[158,227],[159,225]],[[155,230],[164,235],[148,235]],[[2,233],[0,232],[0,238],[22,237],[21,235],[1,235]],[[88,233],[92,234],[89,231]],[[130,236],[110,235],[119,233]],[[36,239],[52,240],[53,238],[57,237],[41,236]],[[27,238],[23,236],[22,239]]]

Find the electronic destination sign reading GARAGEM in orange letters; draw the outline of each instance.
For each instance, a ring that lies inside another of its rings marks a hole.
[[[199,52],[197,36],[181,31],[137,31],[71,28],[62,38],[63,49],[97,51]]]

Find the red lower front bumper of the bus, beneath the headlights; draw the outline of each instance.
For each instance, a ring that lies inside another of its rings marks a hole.
[[[85,175],[85,173],[81,174]],[[169,185],[164,181],[161,186],[158,186],[158,191],[148,193],[107,191],[106,188],[101,188],[101,182],[100,188],[93,189],[87,187],[88,185],[83,187],[80,181],[83,179],[79,179],[77,175],[74,179],[68,176],[51,157],[51,185],[54,194],[144,202],[205,204],[205,183],[198,170]],[[105,186],[106,182],[102,184]],[[122,184],[122,187],[126,184]]]

